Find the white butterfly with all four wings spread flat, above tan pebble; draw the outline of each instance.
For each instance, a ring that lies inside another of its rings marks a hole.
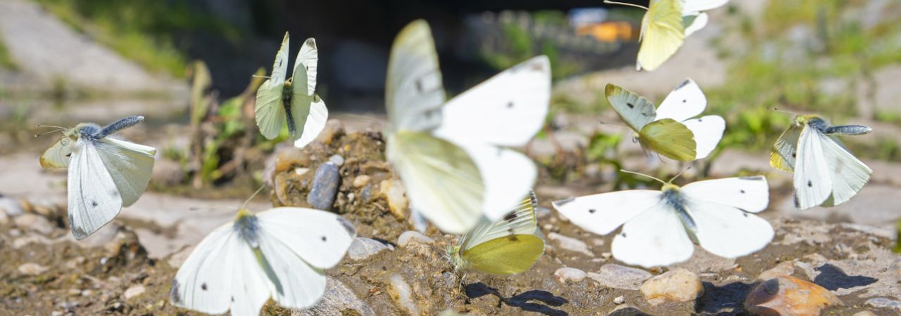
[[[671,181],[660,191],[623,190],[552,204],[591,233],[607,234],[623,225],[611,245],[614,258],[645,268],[685,261],[694,244],[714,255],[736,258],[773,239],[773,227],[753,215],[769,204],[766,178],[701,180],[682,188]]]

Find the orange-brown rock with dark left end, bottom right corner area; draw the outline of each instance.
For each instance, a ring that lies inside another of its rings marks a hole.
[[[835,294],[794,276],[778,276],[754,286],[744,301],[751,314],[819,315],[826,306],[841,305]]]

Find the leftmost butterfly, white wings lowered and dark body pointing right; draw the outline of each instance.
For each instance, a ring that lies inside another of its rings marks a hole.
[[[42,168],[68,168],[68,223],[75,239],[85,239],[112,221],[147,189],[157,150],[115,135],[143,120],[131,116],[105,127],[58,127],[63,136],[41,155]]]

